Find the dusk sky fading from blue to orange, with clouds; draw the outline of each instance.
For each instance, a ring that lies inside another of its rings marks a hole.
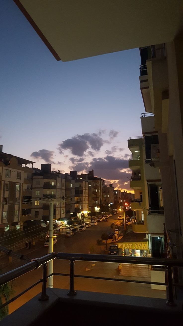
[[[139,49],[56,61],[13,0],[1,0],[1,130],[34,167],[88,172],[129,188],[127,139],[141,135]]]

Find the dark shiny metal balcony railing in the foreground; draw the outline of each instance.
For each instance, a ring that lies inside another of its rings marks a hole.
[[[16,253],[13,253],[12,251],[9,251],[9,249],[6,249],[4,247],[0,247],[0,250],[3,252],[6,252],[7,254],[15,255]],[[59,259],[59,260],[69,260],[70,261],[70,274],[65,273],[52,273],[50,275],[47,275],[47,262],[51,261],[52,259]],[[21,259],[29,260],[24,256],[21,256]],[[108,263],[123,263],[123,264],[143,264],[143,265],[151,265],[151,266],[164,266],[167,271],[167,283],[161,283],[161,282],[150,282],[150,281],[140,281],[140,280],[128,280],[128,279],[119,279],[119,278],[109,278],[109,277],[99,277],[99,276],[92,276],[92,275],[78,275],[74,274],[74,262],[75,261],[90,261],[90,262],[108,262]],[[68,253],[51,253],[46,256],[43,256],[39,259],[34,259],[33,261],[28,262],[27,264],[20,266],[16,268],[15,270],[12,270],[10,272],[7,272],[6,274],[0,275],[0,286],[13,281],[17,277],[20,277],[28,272],[31,272],[40,266],[43,267],[43,277],[42,279],[38,280],[36,283],[32,284],[29,288],[25,289],[15,297],[8,300],[6,303],[2,304],[0,306],[0,309],[7,306],[11,302],[18,299],[22,294],[26,293],[30,289],[34,288],[37,284],[42,283],[42,293],[39,297],[39,301],[46,301],[48,300],[48,295],[46,293],[46,282],[47,278],[49,278],[52,275],[58,275],[58,276],[67,276],[70,277],[70,289],[67,293],[68,296],[76,295],[77,292],[74,290],[74,277],[78,278],[89,278],[89,279],[100,279],[100,280],[111,280],[111,281],[117,281],[117,282],[128,282],[128,283],[141,283],[141,284],[152,284],[152,285],[163,285],[167,286],[167,295],[168,300],[166,301],[166,304],[169,306],[176,305],[174,303],[174,286],[177,286],[177,284],[173,283],[173,277],[172,277],[172,267],[183,267],[183,261],[178,259],[161,259],[161,258],[150,258],[150,257],[123,257],[123,256],[110,256],[110,255],[93,255],[93,254],[68,254]]]

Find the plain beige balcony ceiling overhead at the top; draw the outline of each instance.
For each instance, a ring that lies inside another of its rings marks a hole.
[[[181,0],[14,0],[57,60],[172,41]]]

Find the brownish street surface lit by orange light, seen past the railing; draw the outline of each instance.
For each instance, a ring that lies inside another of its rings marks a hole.
[[[71,238],[65,238],[64,234],[57,234],[57,244],[54,245],[55,252],[67,252],[67,253],[95,253],[100,254],[100,246],[96,244],[96,240],[100,238],[102,233],[107,233],[111,231],[111,222],[117,219],[117,215],[112,216],[109,222],[98,223],[97,226],[93,226],[86,229],[84,232],[78,232]],[[129,226],[131,228],[131,226]],[[108,240],[108,246],[111,243],[111,239]],[[35,247],[32,251],[24,249],[25,253],[31,259],[44,256],[48,253],[48,248],[44,247],[44,241],[39,242],[39,247]],[[94,252],[92,252],[92,247]],[[105,251],[105,243],[101,246],[102,253],[108,253]],[[10,264],[10,269],[20,266],[23,262],[20,260],[16,263]],[[65,260],[54,260],[54,272],[69,274],[70,261]],[[118,264],[117,263],[96,263],[96,266],[91,266],[89,262],[75,262],[74,274],[80,275],[92,275],[100,277],[113,277],[113,278],[124,278],[119,275]],[[13,289],[16,294],[20,293],[22,290],[31,286],[38,279],[42,278],[42,268],[34,270],[29,274],[25,274],[20,278],[16,279],[13,284]],[[66,276],[54,276],[54,288],[69,289],[69,277]],[[144,284],[134,284],[127,282],[115,282],[108,280],[93,280],[85,278],[74,279],[75,290],[85,290],[94,292],[105,292],[105,293],[115,293],[115,294],[126,294],[144,297],[157,297],[166,298],[165,291],[152,290],[150,285]],[[37,285],[35,288],[31,289],[14,303],[9,305],[9,312],[13,312],[20,305],[24,304],[26,301],[30,300],[34,295],[41,291],[41,284]],[[15,294],[14,294],[15,295]]]

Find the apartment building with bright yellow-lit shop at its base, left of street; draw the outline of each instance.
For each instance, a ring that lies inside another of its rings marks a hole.
[[[72,202],[74,202],[74,210],[72,213],[74,216],[81,216],[89,211],[88,201],[88,181],[82,179],[81,175],[77,174],[77,171],[70,171],[72,177],[71,185],[73,189]]]

